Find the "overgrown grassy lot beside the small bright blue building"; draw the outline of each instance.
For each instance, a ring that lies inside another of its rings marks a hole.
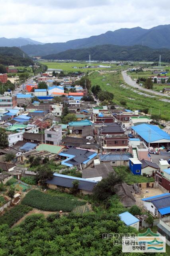
[[[134,183],[144,183],[144,182],[154,182],[154,178],[147,178],[142,175],[134,175],[131,173],[129,167],[127,166],[117,166],[114,167],[114,170],[117,174],[122,174],[124,177],[124,182],[126,182],[128,185],[134,184]]]

